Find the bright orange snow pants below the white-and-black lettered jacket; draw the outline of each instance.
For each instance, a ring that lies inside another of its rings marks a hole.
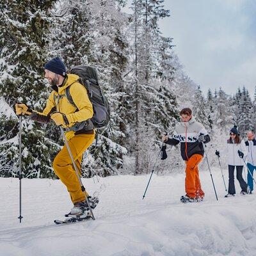
[[[202,159],[203,156],[195,154],[186,161],[185,191],[186,195],[191,198],[204,198],[204,191],[202,191],[198,173],[198,164]]]

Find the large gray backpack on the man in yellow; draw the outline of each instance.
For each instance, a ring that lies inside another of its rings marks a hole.
[[[88,91],[88,97],[92,102],[93,116],[91,118],[95,128],[101,128],[108,125],[110,119],[110,108],[108,99],[102,93],[98,83],[98,75],[96,69],[86,65],[79,65],[72,70],[70,74],[79,76],[79,83],[83,84]],[[66,89],[68,101],[77,109],[72,96],[70,94],[70,86]]]

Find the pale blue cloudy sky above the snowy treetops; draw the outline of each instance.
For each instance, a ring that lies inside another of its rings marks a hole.
[[[128,1],[130,2],[130,1]],[[206,93],[256,86],[256,0],[165,0],[161,20],[184,70]]]

